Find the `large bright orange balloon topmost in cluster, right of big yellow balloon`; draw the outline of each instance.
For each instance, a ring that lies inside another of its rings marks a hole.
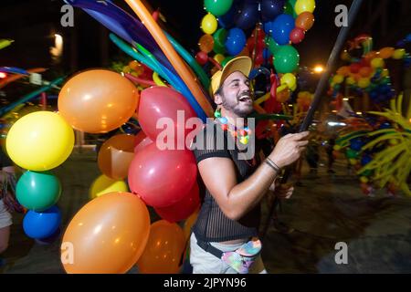
[[[58,95],[61,116],[77,130],[103,133],[119,128],[137,108],[138,89],[127,78],[104,69],[70,78]]]

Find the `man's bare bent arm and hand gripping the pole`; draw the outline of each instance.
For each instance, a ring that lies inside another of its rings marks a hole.
[[[281,138],[269,158],[279,167],[295,162],[307,145],[307,141],[300,141],[306,136],[307,133],[303,132]],[[247,180],[237,183],[234,162],[219,157],[199,162],[198,170],[207,190],[232,220],[238,220],[255,207],[278,175],[267,163],[262,163]]]

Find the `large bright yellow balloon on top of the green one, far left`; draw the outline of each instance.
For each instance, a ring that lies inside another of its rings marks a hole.
[[[44,172],[68,159],[74,147],[74,131],[58,113],[37,111],[16,121],[5,147],[18,166]]]

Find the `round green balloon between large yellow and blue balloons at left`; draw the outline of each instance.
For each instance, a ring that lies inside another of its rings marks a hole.
[[[41,212],[58,202],[61,184],[52,172],[25,172],[16,183],[16,198],[26,209]]]

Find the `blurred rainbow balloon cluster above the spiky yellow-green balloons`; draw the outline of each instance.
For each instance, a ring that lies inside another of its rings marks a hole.
[[[366,35],[357,36],[349,42],[349,49],[342,53],[342,60],[349,64],[338,68],[330,80],[329,94],[333,98],[340,95],[344,86],[353,93],[368,94],[370,99],[376,103],[383,103],[395,97],[385,63],[389,58],[406,60],[406,50],[404,48],[383,47],[379,51],[373,51],[372,42],[372,38]],[[352,57],[350,54],[360,47],[363,47],[362,57]]]

